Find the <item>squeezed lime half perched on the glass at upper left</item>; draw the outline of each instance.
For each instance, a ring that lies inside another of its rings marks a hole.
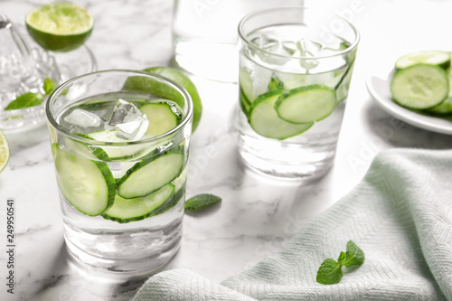
[[[39,6],[27,14],[25,24],[34,42],[43,49],[70,52],[89,38],[94,22],[83,7],[55,2]]]

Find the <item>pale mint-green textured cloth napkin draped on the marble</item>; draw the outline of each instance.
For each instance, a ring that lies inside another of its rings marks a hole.
[[[336,285],[315,282],[348,240],[362,267]],[[214,263],[212,263],[214,264]],[[452,301],[452,151],[381,152],[351,193],[306,224],[278,255],[221,284],[174,269],[150,277],[134,300]]]

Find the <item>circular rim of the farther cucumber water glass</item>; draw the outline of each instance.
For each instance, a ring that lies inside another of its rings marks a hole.
[[[360,42],[360,33],[358,32],[358,30],[356,29],[356,27],[354,27],[354,25],[349,22],[347,19],[345,19],[344,17],[340,16],[339,14],[335,14],[335,13],[330,13],[331,15],[334,15],[335,17],[339,18],[341,21],[343,21],[345,24],[348,24],[352,29],[353,29],[353,33],[355,34],[355,38],[354,41],[350,44],[350,46],[348,46],[347,48],[345,48],[344,50],[340,51],[340,52],[335,52],[334,54],[328,54],[328,55],[322,55],[322,56],[315,56],[315,57],[306,57],[306,56],[291,56],[291,55],[285,55],[285,54],[278,54],[278,53],[274,53],[274,52],[268,52],[265,49],[260,48],[258,45],[254,44],[253,42],[251,42],[243,33],[243,26],[244,24],[252,17],[258,14],[265,14],[268,12],[276,12],[278,10],[287,10],[287,9],[297,9],[297,10],[320,10],[318,7],[310,7],[310,6],[303,6],[303,5],[284,5],[284,6],[279,6],[279,7],[274,7],[274,8],[267,8],[267,9],[263,9],[263,10],[259,10],[259,11],[254,11],[251,12],[250,14],[246,14],[239,23],[238,26],[238,32],[239,32],[239,36],[240,39],[244,42],[246,42],[251,48],[257,49],[260,52],[264,52],[266,54],[272,55],[272,56],[276,56],[279,58],[285,58],[285,59],[292,59],[292,60],[313,60],[313,59],[328,59],[328,58],[333,58],[335,56],[339,56],[339,55],[343,55],[346,54],[348,52],[351,52],[354,48],[356,48],[358,46],[358,42]]]

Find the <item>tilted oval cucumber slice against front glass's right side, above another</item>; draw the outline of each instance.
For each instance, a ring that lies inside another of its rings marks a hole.
[[[133,199],[154,193],[172,182],[184,167],[184,147],[178,146],[141,160],[118,181],[118,194]]]

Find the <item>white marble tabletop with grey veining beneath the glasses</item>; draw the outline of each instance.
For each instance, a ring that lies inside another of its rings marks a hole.
[[[170,63],[172,1],[75,2],[85,5],[96,20],[88,46],[99,69]],[[452,28],[452,2],[343,0],[335,1],[334,7],[353,17],[362,41],[333,170],[308,185],[274,181],[245,170],[231,126],[237,86],[193,79],[204,113],[193,136],[187,195],[214,193],[223,201],[210,211],[186,214],[182,247],[166,268],[191,268],[221,281],[278,252],[299,227],[353,189],[380,150],[452,147],[452,136],[411,127],[384,113],[364,85],[367,76],[384,74],[405,52],[452,50],[447,35]],[[46,127],[7,137],[12,153],[0,174],[0,278],[4,279],[0,300],[130,299],[142,279],[92,275],[67,259]],[[14,295],[6,293],[4,284],[5,208],[10,197],[16,202]]]

